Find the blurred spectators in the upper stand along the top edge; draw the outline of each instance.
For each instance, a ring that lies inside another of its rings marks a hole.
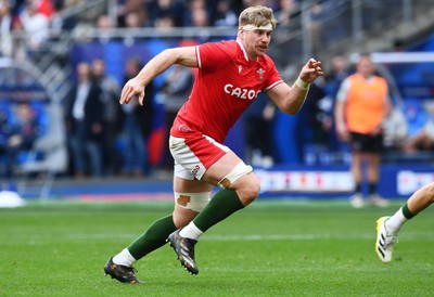
[[[320,35],[318,21],[327,13],[328,2],[333,3],[322,0],[311,9],[315,36]],[[272,8],[281,28],[301,25],[299,20],[290,22],[294,15],[299,15],[299,0],[117,0],[114,3],[116,7],[87,20],[86,11],[69,12],[73,7],[86,4],[82,0],[0,0],[1,52],[23,57],[28,52],[43,50],[48,41],[60,38],[62,31],[81,29],[85,34],[89,27],[101,29],[99,39],[104,40],[104,30],[115,28],[237,26],[239,13],[255,4]],[[26,38],[16,40],[12,36]],[[128,38],[125,41],[131,42]]]

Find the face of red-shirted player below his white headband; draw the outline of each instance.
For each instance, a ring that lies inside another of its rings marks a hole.
[[[254,29],[240,30],[240,39],[243,42],[248,57],[252,60],[264,55],[271,41],[271,30]]]

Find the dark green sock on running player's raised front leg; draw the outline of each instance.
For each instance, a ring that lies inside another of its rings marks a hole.
[[[194,218],[193,222],[202,232],[205,232],[242,208],[244,208],[244,205],[241,203],[237,192],[224,189],[214,195],[208,205]]]

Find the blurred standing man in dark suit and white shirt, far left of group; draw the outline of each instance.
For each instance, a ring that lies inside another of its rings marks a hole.
[[[77,80],[66,99],[65,125],[69,135],[73,175],[102,176],[103,112],[100,86],[92,80],[88,63],[77,65]]]

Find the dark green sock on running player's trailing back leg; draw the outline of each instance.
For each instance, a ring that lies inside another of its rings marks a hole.
[[[128,250],[136,260],[162,247],[171,232],[177,230],[173,215],[156,220],[140,237],[133,241]]]

